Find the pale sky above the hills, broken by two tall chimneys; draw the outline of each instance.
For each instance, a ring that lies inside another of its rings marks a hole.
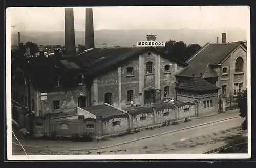
[[[84,31],[85,8],[74,7],[76,31]],[[249,10],[248,6],[93,7],[94,30],[247,29]],[[64,31],[64,7],[12,7],[6,17],[11,19],[11,32]]]

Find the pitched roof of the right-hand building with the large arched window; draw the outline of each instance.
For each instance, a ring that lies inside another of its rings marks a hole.
[[[207,43],[187,61],[189,66],[181,70],[177,76],[191,77],[194,74],[195,77],[200,77],[200,73],[202,73],[204,78],[217,77],[218,75],[212,70],[210,65],[220,64],[240,44],[245,46],[242,42],[225,44]]]

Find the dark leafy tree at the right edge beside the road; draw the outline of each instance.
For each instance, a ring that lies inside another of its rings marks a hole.
[[[243,130],[247,130],[247,89],[238,94],[237,97],[238,107],[240,114],[239,116],[245,118],[241,124]]]

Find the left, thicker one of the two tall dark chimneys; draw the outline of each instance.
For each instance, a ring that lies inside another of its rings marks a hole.
[[[68,56],[76,55],[73,8],[65,8],[65,50]]]

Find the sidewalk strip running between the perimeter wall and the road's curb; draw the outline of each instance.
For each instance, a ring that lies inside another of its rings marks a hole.
[[[124,142],[129,142],[133,141],[134,139],[139,139],[143,138],[146,136],[152,136],[160,133],[165,133],[169,131],[174,131],[178,129],[183,129],[191,126],[196,126],[208,122],[213,122],[221,119],[226,119],[230,117],[238,116],[238,113],[234,112],[227,112],[223,114],[218,114],[215,116],[210,116],[210,117],[204,117],[201,119],[194,119],[193,121],[186,122],[186,123],[181,123],[178,125],[170,125],[167,127],[161,127],[161,128],[156,128],[154,130],[145,130],[142,132],[138,132],[135,134],[130,134],[130,135],[125,135],[121,137],[116,137],[116,138],[109,138],[106,141],[94,141],[94,142],[70,142],[70,141],[44,141],[44,140],[27,140],[27,141],[22,141],[21,143],[25,146],[36,146],[36,147],[46,147],[52,150],[67,150],[67,149],[91,149],[91,148],[102,148],[105,146],[112,146],[115,144],[119,143],[124,143]]]

